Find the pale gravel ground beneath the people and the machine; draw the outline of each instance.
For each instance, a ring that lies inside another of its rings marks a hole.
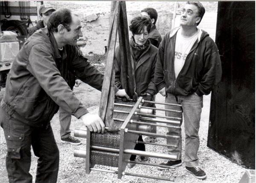
[[[0,97],[3,95],[4,90],[0,92]],[[98,113],[100,92],[89,87],[87,84],[81,84],[78,88],[75,88],[74,92],[76,96],[81,99],[83,104],[89,107],[90,112]],[[164,98],[157,95],[157,101],[164,102]],[[243,168],[236,163],[231,162],[224,156],[218,154],[212,149],[207,147],[207,133],[208,133],[208,121],[209,121],[209,105],[210,96],[204,96],[204,107],[201,116],[201,127],[200,127],[200,148],[198,156],[200,160],[200,167],[204,169],[207,174],[207,179],[198,180],[185,171],[184,166],[180,166],[176,169],[169,169],[166,171],[159,171],[155,167],[136,165],[134,168],[126,168],[126,172],[135,174],[147,174],[151,176],[161,177],[174,177],[177,183],[238,183],[246,168]],[[162,106],[158,106],[162,107]],[[163,115],[163,113],[157,113]],[[75,127],[82,127],[80,120],[72,118],[71,129]],[[164,183],[167,181],[146,179],[140,177],[124,176],[121,180],[117,179],[116,174],[110,174],[99,171],[91,171],[91,173],[85,174],[85,159],[73,156],[73,150],[75,148],[85,148],[86,140],[82,139],[83,144],[79,146],[70,145],[61,142],[59,135],[59,122],[58,115],[55,115],[52,119],[52,128],[55,134],[55,139],[60,150],[60,168],[58,174],[58,183]],[[183,137],[184,137],[184,126]],[[157,132],[160,134],[166,133],[165,128],[157,128]],[[183,149],[184,149],[184,138]],[[165,141],[161,138],[158,142],[164,143]],[[159,153],[166,153],[166,148],[146,145],[147,151],[154,151]],[[32,153],[33,154],[33,153]],[[0,128],[0,183],[8,182],[7,172],[5,168],[5,155],[6,155],[6,142],[3,137],[3,130]],[[182,157],[183,159],[183,157]],[[139,159],[137,159],[139,161]],[[35,180],[37,157],[32,155],[32,164],[30,173]],[[161,163],[160,159],[151,158],[151,163]],[[116,170],[117,168],[108,166],[95,166],[95,168],[104,168],[109,170]]]

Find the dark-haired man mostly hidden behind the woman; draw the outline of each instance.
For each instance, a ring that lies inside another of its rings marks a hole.
[[[159,47],[160,42],[162,41],[162,37],[157,30],[156,23],[157,23],[157,11],[154,8],[145,8],[141,10],[141,14],[143,16],[147,16],[151,19],[151,29],[149,31],[149,40],[151,44],[156,46],[157,48]]]

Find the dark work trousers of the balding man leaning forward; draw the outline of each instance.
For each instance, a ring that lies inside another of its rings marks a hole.
[[[6,168],[9,183],[32,183],[29,173],[31,146],[38,157],[35,183],[56,183],[58,177],[59,151],[52,127],[32,127],[24,124],[0,107],[0,125],[6,145]]]

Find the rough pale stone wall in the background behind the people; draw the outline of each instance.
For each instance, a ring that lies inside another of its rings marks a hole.
[[[167,11],[160,11],[159,14],[162,16],[157,19],[157,29],[163,36],[172,27],[173,14]],[[128,25],[131,19],[137,15],[140,15],[139,11],[127,12]],[[87,54],[105,54],[106,46],[108,45],[109,37],[109,26],[110,26],[110,12],[101,14],[84,15],[80,14],[82,19],[82,32],[84,40],[86,41],[85,46],[81,46],[82,52]],[[129,31],[129,38],[131,32]],[[118,42],[118,36],[117,36]]]

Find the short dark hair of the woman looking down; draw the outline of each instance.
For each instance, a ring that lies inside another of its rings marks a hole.
[[[146,16],[137,16],[131,20],[131,25],[129,26],[132,34],[141,34],[144,26],[147,27],[147,31],[150,31],[151,28],[151,20]]]

